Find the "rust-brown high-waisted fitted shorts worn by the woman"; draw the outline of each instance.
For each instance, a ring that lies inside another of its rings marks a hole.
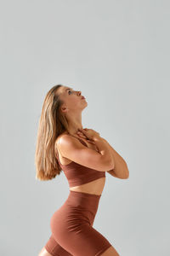
[[[101,195],[70,190],[65,203],[52,215],[52,235],[45,245],[53,256],[99,256],[110,241],[93,228]]]

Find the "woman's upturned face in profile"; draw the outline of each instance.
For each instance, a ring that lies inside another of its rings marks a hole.
[[[59,89],[59,97],[65,102],[64,107],[69,110],[83,109],[88,105],[86,99],[82,99],[82,92],[80,90],[73,90],[67,86],[62,86]]]

